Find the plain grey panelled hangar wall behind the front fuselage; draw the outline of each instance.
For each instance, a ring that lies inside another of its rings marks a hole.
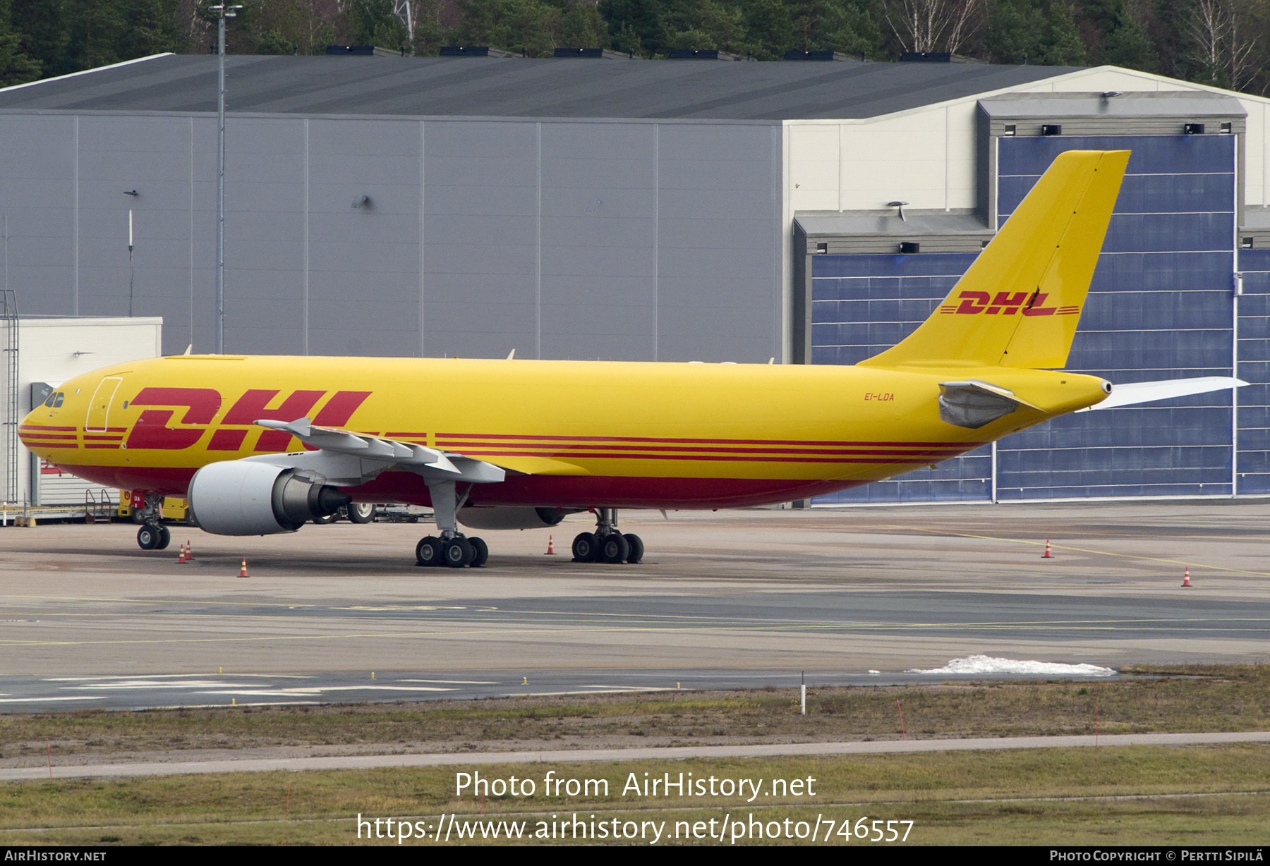
[[[126,315],[131,208],[135,314],[164,317],[165,353],[211,350],[215,124],[4,112],[0,211],[22,312]],[[780,132],[231,116],[226,350],[779,358]]]

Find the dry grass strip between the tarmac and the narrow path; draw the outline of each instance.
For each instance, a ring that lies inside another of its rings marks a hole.
[[[0,758],[268,747],[427,750],[1270,729],[1270,667],[1135,668],[1144,678],[796,692],[662,692],[480,701],[0,716]]]

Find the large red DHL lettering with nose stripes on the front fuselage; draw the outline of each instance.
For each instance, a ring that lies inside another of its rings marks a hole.
[[[207,442],[207,451],[241,451],[248,433],[251,433],[257,420],[292,422],[312,414],[315,406],[329,391],[293,391],[281,404],[271,408],[278,390],[251,389],[240,396],[218,422],[221,411],[221,392],[206,387],[144,387],[127,406],[147,406],[132,432],[127,427],[107,427],[103,415],[99,427],[86,427],[84,448],[154,448],[159,451],[182,451],[198,444],[208,429],[213,429]],[[371,391],[337,391],[314,416],[314,424],[321,427],[343,427],[353,413],[371,396]],[[155,406],[155,408],[149,408]],[[180,413],[178,420],[173,416]],[[110,413],[119,411],[110,408]],[[177,427],[171,427],[177,424]],[[75,448],[77,443],[75,427],[34,427],[23,425],[19,436],[28,447]],[[253,451],[286,451],[291,444],[291,434],[282,430],[262,430]]]

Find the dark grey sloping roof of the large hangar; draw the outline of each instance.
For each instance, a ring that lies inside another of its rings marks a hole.
[[[1071,67],[984,63],[226,58],[231,112],[408,117],[867,118]],[[0,110],[215,112],[216,57],[166,55],[0,90]]]

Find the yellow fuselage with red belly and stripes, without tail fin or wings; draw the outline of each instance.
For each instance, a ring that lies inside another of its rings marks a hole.
[[[940,418],[940,382],[983,380],[1035,409],[979,429]],[[58,389],[20,436],[81,477],[184,495],[199,467],[300,451],[255,420],[415,442],[508,470],[472,505],[718,508],[841,490],[933,465],[1099,403],[1104,382],[1005,367],[815,367],[178,356]],[[349,490],[427,504],[411,472]]]

